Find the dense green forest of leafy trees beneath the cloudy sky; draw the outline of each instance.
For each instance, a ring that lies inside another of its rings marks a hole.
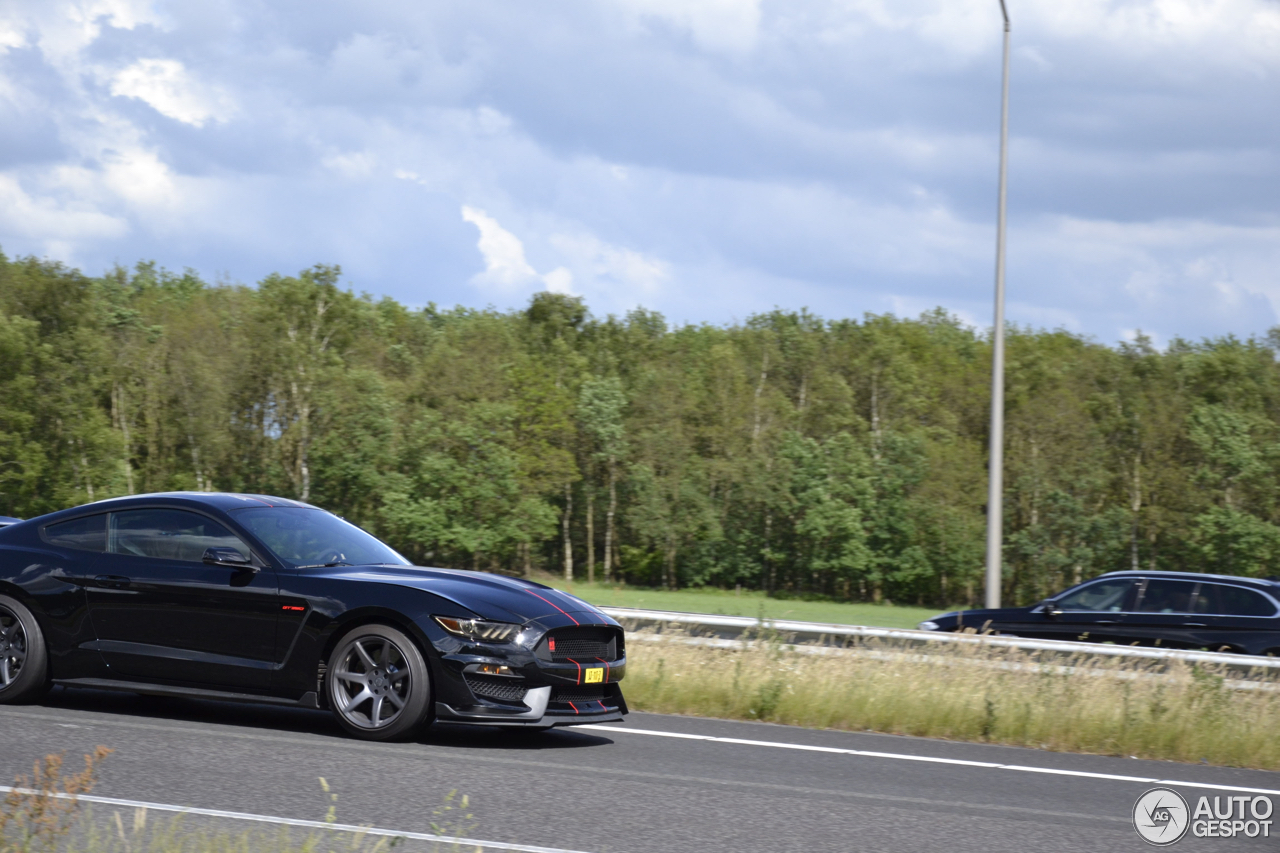
[[[1005,601],[1280,558],[1280,330],[1106,346],[1010,327]],[[420,565],[982,599],[989,334],[411,309],[335,266],[210,284],[0,255],[0,514],[178,489],[300,498]]]

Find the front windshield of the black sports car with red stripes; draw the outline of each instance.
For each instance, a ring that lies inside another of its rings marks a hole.
[[[410,565],[356,525],[324,510],[246,507],[232,510],[232,517],[294,569]]]

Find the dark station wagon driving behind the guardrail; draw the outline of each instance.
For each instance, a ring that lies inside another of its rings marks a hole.
[[[920,629],[1280,654],[1280,581],[1114,571],[1030,607],[954,611]]]

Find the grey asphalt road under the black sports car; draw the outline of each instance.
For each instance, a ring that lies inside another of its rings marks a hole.
[[[1249,770],[646,713],[617,725],[1280,790],[1280,774]],[[442,726],[369,744],[316,711],[56,689],[40,706],[0,707],[0,775],[105,744],[115,753],[95,794],[317,820],[324,776],[340,822],[420,833],[457,790],[471,799],[471,838],[590,853],[1151,849],[1129,818],[1143,783],[607,729]],[[1194,804],[1229,792],[1181,793]],[[1172,849],[1277,850],[1280,838],[1188,836]]]

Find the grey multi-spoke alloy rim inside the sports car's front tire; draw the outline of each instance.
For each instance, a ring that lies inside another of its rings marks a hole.
[[[396,722],[413,692],[404,652],[376,634],[348,642],[330,678],[338,712],[361,729],[385,729]]]

